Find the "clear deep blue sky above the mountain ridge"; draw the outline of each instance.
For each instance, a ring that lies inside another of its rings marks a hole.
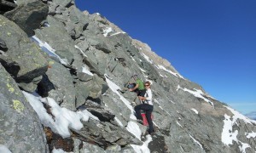
[[[256,111],[255,0],[76,0],[241,113]]]

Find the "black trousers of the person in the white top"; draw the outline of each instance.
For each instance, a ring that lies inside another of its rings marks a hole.
[[[153,122],[151,119],[151,114],[152,114],[153,109],[154,109],[153,105],[148,105],[148,104],[137,105],[134,107],[137,119],[139,119],[139,120],[143,120],[141,110],[146,111],[146,117],[148,120],[148,127],[149,127],[148,133],[152,133],[154,131]]]

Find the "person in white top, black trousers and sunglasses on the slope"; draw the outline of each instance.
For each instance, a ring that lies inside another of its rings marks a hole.
[[[149,134],[154,132],[153,122],[151,119],[151,114],[154,109],[154,106],[153,106],[153,102],[152,102],[152,92],[150,89],[150,84],[151,84],[150,82],[144,83],[146,92],[143,96],[142,95],[138,96],[138,98],[142,101],[142,104],[134,107],[138,122],[143,121],[143,116],[141,115],[141,110],[146,111],[146,118],[148,120],[148,127],[149,127],[148,133]]]

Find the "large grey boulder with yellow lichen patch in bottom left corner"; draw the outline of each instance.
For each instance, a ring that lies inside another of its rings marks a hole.
[[[49,152],[41,122],[0,64],[0,144],[12,152]]]

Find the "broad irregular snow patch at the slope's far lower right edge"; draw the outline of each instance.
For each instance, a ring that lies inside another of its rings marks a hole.
[[[234,116],[228,116],[228,115],[224,115],[224,127],[223,127],[223,131],[221,134],[221,140],[225,145],[230,145],[233,144],[233,141],[236,142],[236,144],[239,145],[239,148],[241,150],[242,153],[246,152],[247,148],[250,148],[251,146],[249,144],[243,143],[241,142],[239,139],[237,139],[237,135],[239,133],[238,130],[236,130],[235,132],[233,132],[233,125],[237,125],[238,123],[236,122],[237,119],[241,119],[244,122],[248,123],[248,124],[252,124],[255,123],[254,121],[248,119],[246,116],[241,115],[239,112],[231,109],[228,106],[225,106],[228,110],[230,110]],[[246,133],[245,133],[246,134]],[[247,137],[248,138],[248,137]]]

